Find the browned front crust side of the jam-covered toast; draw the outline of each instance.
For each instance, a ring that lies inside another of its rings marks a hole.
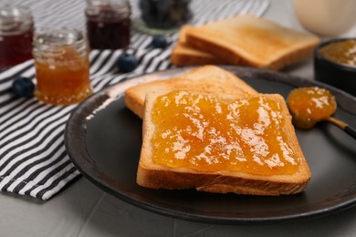
[[[309,182],[309,179],[295,182],[285,181],[281,177],[265,179],[174,170],[151,170],[141,166],[137,173],[137,183],[151,189],[196,189],[197,191],[267,196],[295,194],[304,191]]]

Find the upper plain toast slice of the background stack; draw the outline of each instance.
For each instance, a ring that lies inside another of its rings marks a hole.
[[[280,69],[310,57],[319,38],[254,15],[187,28],[186,44],[229,64]]]

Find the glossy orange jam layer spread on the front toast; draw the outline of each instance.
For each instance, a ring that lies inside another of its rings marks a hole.
[[[153,161],[209,172],[291,174],[298,170],[282,115],[273,98],[221,98],[173,91],[152,108]],[[290,122],[287,121],[287,122]]]

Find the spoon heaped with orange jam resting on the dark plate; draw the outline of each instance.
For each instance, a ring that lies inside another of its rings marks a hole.
[[[356,129],[338,118],[331,117],[337,104],[329,90],[317,87],[296,88],[289,93],[287,103],[293,122],[299,129],[311,129],[317,122],[324,120],[356,139]]]

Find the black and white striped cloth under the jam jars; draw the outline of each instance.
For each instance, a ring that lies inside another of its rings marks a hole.
[[[132,17],[139,15],[131,1]],[[2,0],[0,5],[26,5],[31,8],[36,27],[67,27],[85,31],[84,0]],[[262,15],[267,0],[193,0],[194,25],[241,13]],[[176,36],[172,36],[175,40]],[[172,46],[157,49],[150,46],[152,36],[132,30],[131,51],[140,66],[122,74],[115,67],[120,50],[93,50],[90,55],[90,79],[94,91],[120,82],[122,78],[172,67]],[[1,52],[0,52],[1,54]],[[47,200],[79,171],[68,158],[64,146],[64,129],[76,105],[50,106],[37,98],[16,98],[11,93],[14,77],[30,77],[36,83],[33,60],[0,73],[0,190]]]

